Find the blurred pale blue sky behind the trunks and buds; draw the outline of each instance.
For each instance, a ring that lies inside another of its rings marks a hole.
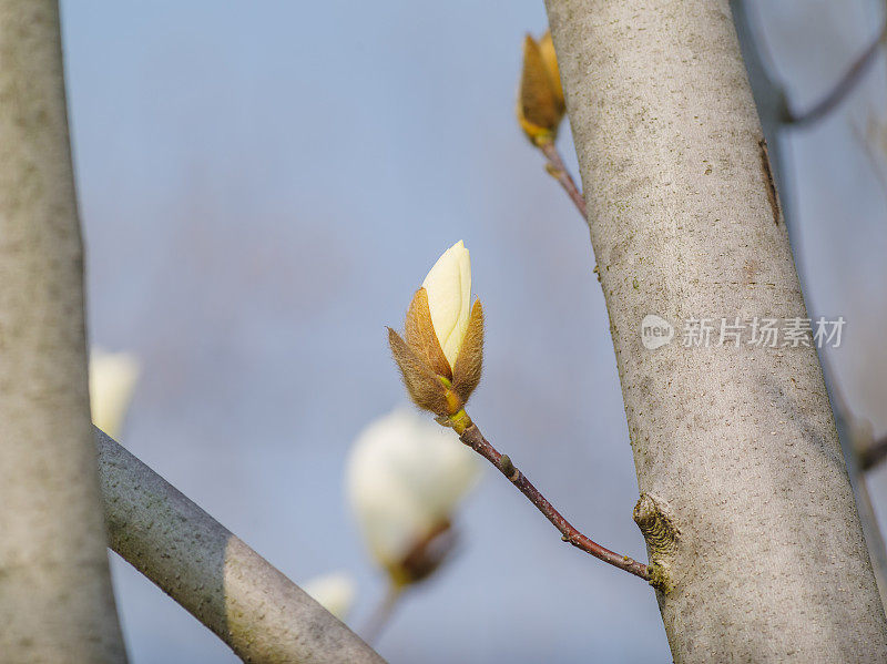
[[[798,104],[879,17],[866,0],[756,4]],[[461,238],[489,326],[472,415],[577,525],[645,555],[588,233],[513,121],[541,0],[62,11],[90,331],[144,362],[123,436],[135,454],[294,580],[351,572],[359,630],[383,580],[344,460],[402,402],[384,326]],[[840,112],[786,137],[814,310],[848,319],[835,361],[879,431],[886,190],[855,134],[884,116],[883,60]],[[561,145],[573,163],[568,132]],[[459,527],[458,559],[378,643],[394,664],[670,661],[644,584],[562,544],[500,478]],[[134,663],[234,661],[126,563],[114,574]]]

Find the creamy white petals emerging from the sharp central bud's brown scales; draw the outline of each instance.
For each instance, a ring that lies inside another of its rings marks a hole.
[[[456,367],[471,313],[471,258],[460,239],[437,259],[422,282],[440,348]]]

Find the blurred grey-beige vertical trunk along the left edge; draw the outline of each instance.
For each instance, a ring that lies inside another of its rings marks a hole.
[[[0,658],[123,662],[58,7],[0,0]]]

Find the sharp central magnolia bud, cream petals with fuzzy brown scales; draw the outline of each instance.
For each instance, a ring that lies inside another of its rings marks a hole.
[[[471,306],[471,262],[461,241],[435,263],[407,310],[406,341],[388,343],[412,401],[441,417],[459,412],[480,381],[483,310]]]

